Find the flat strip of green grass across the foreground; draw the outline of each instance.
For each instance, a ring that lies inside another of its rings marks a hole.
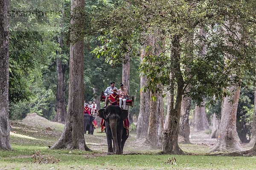
[[[44,157],[60,159],[56,164],[34,163],[31,157],[34,150],[41,150]],[[79,150],[48,150],[47,147],[14,145],[12,151],[0,151],[0,169],[15,167],[27,169],[44,169],[55,167],[57,169],[244,169],[253,170],[256,167],[255,157],[223,157],[198,155],[113,155],[86,152]],[[165,164],[169,158],[175,157],[177,165]]]

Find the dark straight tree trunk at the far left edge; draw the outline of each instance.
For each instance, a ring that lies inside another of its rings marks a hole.
[[[0,149],[12,149],[9,125],[9,0],[0,1]]]

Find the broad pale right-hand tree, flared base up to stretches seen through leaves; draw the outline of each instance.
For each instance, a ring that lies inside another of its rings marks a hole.
[[[226,20],[223,25],[222,30],[225,35],[231,35],[233,40],[241,40],[241,28],[238,23],[230,23],[230,20]],[[227,48],[235,48],[239,51],[239,47],[236,47],[233,41],[230,41],[227,37],[224,38],[224,43]],[[236,58],[236,54],[230,54],[229,51],[227,51],[224,55],[225,66],[228,67],[229,63],[236,60]],[[239,67],[239,65],[235,65],[235,67],[233,66],[233,68],[230,69],[230,77],[237,77]],[[236,85],[231,85],[227,88],[227,93],[230,92],[231,95],[225,96],[221,104],[221,122],[218,129],[217,142],[211,151],[242,150],[240,139],[236,131],[236,113],[240,95],[239,79],[236,81],[238,81]]]

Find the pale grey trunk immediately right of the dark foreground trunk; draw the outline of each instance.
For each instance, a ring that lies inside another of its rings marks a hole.
[[[190,143],[189,141],[189,111],[191,106],[191,98],[183,97],[181,102],[180,111],[180,132],[179,132],[179,142],[180,143]]]

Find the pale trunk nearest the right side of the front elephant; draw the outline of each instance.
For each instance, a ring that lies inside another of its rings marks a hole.
[[[146,55],[145,48],[141,49],[140,60]],[[144,75],[140,76],[140,89],[147,85],[147,78]],[[150,92],[142,90],[140,92],[140,113],[137,121],[137,139],[145,138],[148,134],[149,123],[149,106],[150,106]]]

